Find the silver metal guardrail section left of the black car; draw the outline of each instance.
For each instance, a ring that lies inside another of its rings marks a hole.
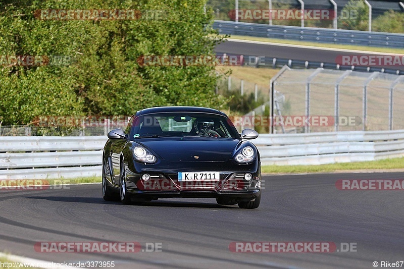
[[[0,137],[0,179],[101,176],[106,136]]]

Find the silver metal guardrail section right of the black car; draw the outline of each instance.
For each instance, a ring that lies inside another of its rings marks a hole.
[[[260,134],[263,165],[320,165],[404,156],[404,130]]]

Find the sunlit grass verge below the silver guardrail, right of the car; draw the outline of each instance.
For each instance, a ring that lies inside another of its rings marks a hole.
[[[374,160],[370,162],[340,163],[317,166],[262,166],[262,173],[271,174],[300,174],[300,173],[329,173],[345,171],[388,171],[404,169],[404,157]]]

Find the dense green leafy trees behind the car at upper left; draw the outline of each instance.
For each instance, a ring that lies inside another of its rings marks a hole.
[[[38,116],[132,115],[159,105],[220,109],[213,66],[140,66],[143,55],[214,55],[221,38],[204,0],[6,0],[0,56],[65,56],[69,65],[0,67],[0,122]],[[39,20],[36,10],[164,10],[162,19]],[[213,37],[213,38],[212,38]],[[218,38],[214,38],[218,37]]]

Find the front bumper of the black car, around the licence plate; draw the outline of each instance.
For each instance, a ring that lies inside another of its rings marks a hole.
[[[261,164],[257,160],[248,165],[235,164],[233,160],[218,163],[183,163],[144,165],[137,162],[125,164],[127,191],[135,197],[158,198],[219,198],[234,197],[249,201],[260,195]],[[178,172],[219,172],[218,181],[178,181]],[[147,174],[150,178],[143,180]],[[245,174],[251,174],[250,180]]]

